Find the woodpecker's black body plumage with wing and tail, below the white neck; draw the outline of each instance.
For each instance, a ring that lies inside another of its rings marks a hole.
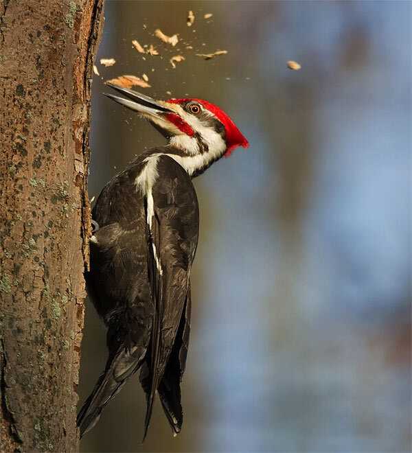
[[[102,190],[93,208],[98,223],[91,241],[87,285],[108,328],[106,368],[78,415],[80,434],[139,369],[147,397],[146,437],[158,391],[170,426],[181,430],[180,382],[190,332],[190,270],[198,242],[198,202],[187,172],[165,154],[141,154]],[[136,178],[157,156],[148,225],[148,199]],[[158,260],[158,261],[157,261]],[[160,262],[160,264],[159,264]]]

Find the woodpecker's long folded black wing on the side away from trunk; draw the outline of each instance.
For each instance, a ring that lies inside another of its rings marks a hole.
[[[159,177],[152,187],[155,212],[148,229],[155,316],[150,354],[141,373],[147,395],[145,437],[157,390],[172,429],[179,432],[181,428],[180,380],[184,365],[179,356],[187,349],[190,270],[198,242],[198,202],[190,177],[168,156],[161,156],[157,172]]]

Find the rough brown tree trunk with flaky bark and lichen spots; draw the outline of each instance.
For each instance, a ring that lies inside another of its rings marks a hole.
[[[0,451],[74,452],[103,0],[0,0]]]

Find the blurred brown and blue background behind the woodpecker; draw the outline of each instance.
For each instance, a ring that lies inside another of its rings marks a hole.
[[[194,180],[181,434],[157,404],[140,445],[135,377],[82,451],[411,451],[412,3],[106,1],[105,16],[90,196],[164,142],[102,95],[118,75],[146,73],[152,88],[137,90],[157,99],[220,105],[251,146]],[[156,28],[181,43],[163,45]],[[228,54],[194,55],[216,49]],[[186,59],[172,69],[176,54]],[[80,402],[104,368],[104,335],[89,303]]]

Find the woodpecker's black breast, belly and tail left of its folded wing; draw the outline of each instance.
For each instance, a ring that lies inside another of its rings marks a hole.
[[[141,366],[148,349],[154,306],[148,285],[146,217],[134,178],[139,168],[113,178],[100,194],[93,219],[88,292],[108,327],[106,368],[78,414],[80,435]]]

